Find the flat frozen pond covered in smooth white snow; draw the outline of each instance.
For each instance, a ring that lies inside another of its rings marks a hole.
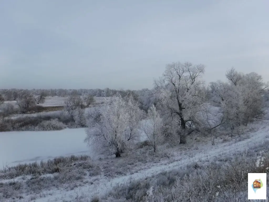
[[[56,156],[87,154],[84,128],[60,131],[15,131],[0,133],[0,166],[30,163]]]

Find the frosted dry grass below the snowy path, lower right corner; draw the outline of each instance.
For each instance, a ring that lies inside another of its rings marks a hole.
[[[260,151],[260,150],[259,150]],[[247,173],[266,173],[269,167],[269,152],[264,153],[263,166],[256,168],[257,153],[250,149],[235,158],[201,166],[197,163],[162,172],[143,180],[131,180],[113,188],[104,201],[246,201]],[[221,162],[221,163],[220,163]],[[269,185],[267,175],[267,186]],[[234,184],[235,186],[231,186]],[[219,188],[220,186],[220,188]],[[152,188],[151,188],[152,187]],[[150,189],[153,195],[150,196]],[[194,191],[195,190],[195,191]],[[268,195],[268,191],[267,191]]]

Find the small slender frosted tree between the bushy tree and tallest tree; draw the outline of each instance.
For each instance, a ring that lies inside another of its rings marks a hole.
[[[156,152],[157,147],[163,141],[161,128],[162,119],[160,114],[157,112],[156,107],[151,105],[148,109],[148,120],[146,121],[143,129],[154,149],[154,152]]]

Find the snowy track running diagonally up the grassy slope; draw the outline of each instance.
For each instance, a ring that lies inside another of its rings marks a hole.
[[[87,186],[78,187],[72,191],[64,190],[52,190],[44,192],[45,197],[36,199],[36,202],[41,201],[62,201],[62,200],[73,200],[77,195],[87,195],[90,199],[95,195],[102,195],[111,190],[111,188],[117,184],[128,182],[130,178],[140,179],[146,176],[151,176],[153,174],[159,173],[163,170],[170,171],[172,169],[180,169],[182,166],[186,166],[193,162],[199,161],[215,161],[219,156],[231,157],[236,152],[243,152],[249,147],[259,147],[264,141],[269,140],[269,122],[261,121],[259,123],[250,124],[248,128],[252,128],[255,132],[249,132],[244,134],[245,137],[250,137],[242,141],[230,141],[221,144],[211,145],[211,142],[202,145],[198,149],[189,149],[189,152],[178,153],[178,157],[175,162],[169,163],[167,165],[162,165],[162,162],[154,165],[150,169],[141,170],[137,173],[130,174],[127,176],[120,176],[114,179],[108,179],[104,176],[100,176],[98,181],[94,184],[89,184]],[[188,150],[188,145],[183,145],[186,150]],[[190,147],[190,145],[189,145]],[[28,200],[28,199],[27,199]]]

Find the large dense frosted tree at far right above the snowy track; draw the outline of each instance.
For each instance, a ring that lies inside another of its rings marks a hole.
[[[231,130],[240,124],[247,125],[254,118],[263,119],[265,102],[262,91],[269,85],[262,81],[261,75],[255,72],[243,74],[232,68],[226,73],[226,78],[229,84],[220,87],[219,97],[226,124]]]

